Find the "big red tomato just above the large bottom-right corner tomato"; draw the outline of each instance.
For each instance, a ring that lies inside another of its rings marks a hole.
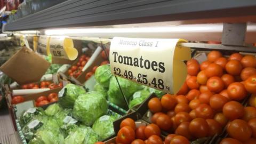
[[[241,103],[236,101],[227,102],[222,108],[223,114],[229,120],[242,118],[244,116],[244,107]]]

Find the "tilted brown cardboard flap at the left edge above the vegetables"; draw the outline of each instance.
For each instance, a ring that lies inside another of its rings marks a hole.
[[[18,84],[40,81],[50,63],[35,52],[23,47],[15,53],[0,69]]]

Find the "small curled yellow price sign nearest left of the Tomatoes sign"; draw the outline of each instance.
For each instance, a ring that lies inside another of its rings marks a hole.
[[[78,56],[78,51],[74,48],[74,43],[71,38],[67,37],[51,37],[50,52],[52,57],[62,59],[75,60]]]

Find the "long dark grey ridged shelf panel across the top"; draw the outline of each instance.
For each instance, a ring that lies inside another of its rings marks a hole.
[[[69,0],[8,23],[4,30],[106,26],[156,21],[256,21],[255,10],[255,0]]]

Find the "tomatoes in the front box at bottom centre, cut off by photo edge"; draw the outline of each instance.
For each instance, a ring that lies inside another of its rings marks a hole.
[[[120,124],[116,143],[122,144],[189,144],[187,138],[181,135],[170,134],[165,139],[161,137],[161,130],[156,124],[136,126],[131,118],[125,118]],[[103,142],[97,142],[103,144]]]

